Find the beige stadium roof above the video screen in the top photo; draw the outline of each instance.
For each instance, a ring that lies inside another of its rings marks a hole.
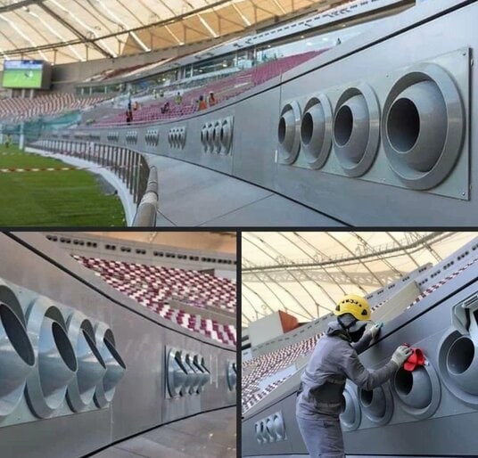
[[[52,63],[150,52],[343,0],[0,0],[0,56]]]

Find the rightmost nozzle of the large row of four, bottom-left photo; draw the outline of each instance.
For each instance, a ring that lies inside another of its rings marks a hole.
[[[114,335],[106,324],[96,325],[95,345],[106,367],[103,380],[97,385],[94,397],[96,405],[102,408],[111,403],[116,386],[125,375],[126,364],[119,355],[115,346]]]

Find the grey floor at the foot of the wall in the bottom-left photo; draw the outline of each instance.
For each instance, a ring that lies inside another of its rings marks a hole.
[[[235,458],[236,409],[176,421],[128,439],[95,458]]]

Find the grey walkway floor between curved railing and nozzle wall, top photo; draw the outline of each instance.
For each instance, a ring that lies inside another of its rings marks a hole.
[[[160,211],[156,225],[301,225],[337,226],[336,220],[233,176],[148,155],[158,168]]]

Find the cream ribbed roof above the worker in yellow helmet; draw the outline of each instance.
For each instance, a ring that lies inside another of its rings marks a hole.
[[[330,313],[448,257],[478,233],[243,232],[242,323],[284,310],[300,322]]]

